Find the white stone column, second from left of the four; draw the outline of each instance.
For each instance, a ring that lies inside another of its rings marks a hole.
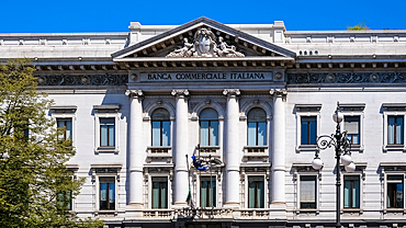
[[[188,152],[188,90],[172,90],[171,94],[176,98],[176,121],[173,138],[173,162],[174,162],[174,207],[188,206],[187,198],[189,193],[189,173],[187,155]]]

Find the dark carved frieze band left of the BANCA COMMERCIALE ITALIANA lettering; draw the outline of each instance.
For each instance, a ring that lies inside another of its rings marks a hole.
[[[42,75],[38,86],[125,86],[128,75]]]

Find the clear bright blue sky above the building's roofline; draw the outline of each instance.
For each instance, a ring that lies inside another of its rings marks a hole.
[[[0,33],[128,32],[129,22],[184,24],[207,16],[225,24],[284,21],[289,31],[406,30],[406,0],[1,0]]]

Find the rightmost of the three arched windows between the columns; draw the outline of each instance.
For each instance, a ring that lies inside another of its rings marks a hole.
[[[267,113],[255,107],[248,113],[248,146],[267,145]]]

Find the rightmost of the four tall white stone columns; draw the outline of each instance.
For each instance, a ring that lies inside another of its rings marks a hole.
[[[273,132],[272,132],[272,200],[271,208],[281,209],[274,216],[284,216],[285,208],[285,89],[272,89]],[[282,212],[283,210],[283,212]],[[277,213],[277,212],[275,212]]]

